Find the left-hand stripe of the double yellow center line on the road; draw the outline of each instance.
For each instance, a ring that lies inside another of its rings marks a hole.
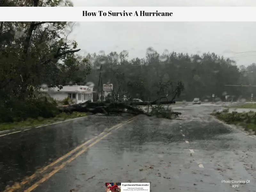
[[[117,124],[111,128],[108,129],[108,131],[111,131],[112,129],[116,128],[116,127],[119,127],[119,126],[122,126],[126,123],[129,123],[131,120],[134,120],[135,117],[132,117],[131,119],[128,119],[126,121],[124,121],[123,123],[120,123],[120,124]],[[73,150],[69,151],[67,154],[65,154],[64,156],[61,156],[60,158],[58,158],[57,160],[55,160],[54,162],[52,162],[51,164],[45,166],[44,168],[42,169],[39,169],[37,173],[34,173],[33,175],[29,176],[28,178],[24,179],[22,182],[20,183],[15,183],[14,185],[12,185],[11,187],[8,187],[7,189],[4,190],[4,192],[13,192],[19,188],[22,187],[22,185],[25,185],[29,180],[32,180],[36,177],[36,175],[46,171],[48,168],[52,167],[53,165],[59,163],[60,161],[62,161],[63,159],[65,159],[66,157],[70,156],[71,154],[73,154],[74,152],[76,152],[77,150],[79,150],[80,148],[84,147],[86,144],[90,143],[91,141],[99,138],[101,135],[103,134],[106,134],[107,132],[104,131],[104,132],[101,132],[99,135],[93,137],[92,139],[84,142],[83,144],[77,146],[76,148],[74,148]]]

